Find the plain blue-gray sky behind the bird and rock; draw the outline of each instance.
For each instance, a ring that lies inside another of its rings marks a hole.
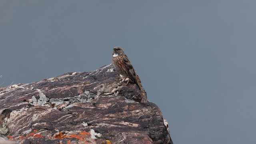
[[[256,141],[255,0],[1,0],[0,84],[128,55],[174,144]]]

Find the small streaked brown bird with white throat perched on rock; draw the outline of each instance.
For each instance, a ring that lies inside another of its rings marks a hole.
[[[126,77],[128,77],[129,80],[132,80],[136,83],[136,85],[139,86],[140,90],[142,89],[140,78],[134,70],[130,60],[128,59],[126,54],[124,54],[124,50],[119,46],[114,47],[114,52],[112,55],[112,66],[114,70],[116,70],[116,72],[125,77],[124,80],[126,79]]]

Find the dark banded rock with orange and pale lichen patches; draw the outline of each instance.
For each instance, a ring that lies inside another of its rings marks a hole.
[[[0,88],[0,134],[19,144],[172,144],[158,106],[111,65]]]

